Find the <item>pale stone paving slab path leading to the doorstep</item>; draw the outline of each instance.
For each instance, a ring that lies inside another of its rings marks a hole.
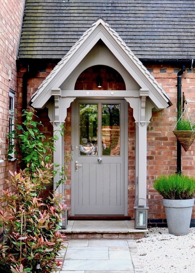
[[[133,239],[69,239],[58,273],[144,273]]]

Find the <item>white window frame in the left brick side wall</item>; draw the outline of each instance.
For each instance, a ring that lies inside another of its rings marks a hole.
[[[12,90],[9,90],[9,133],[11,131],[14,130],[14,94],[15,92],[13,92]],[[12,103],[11,103],[11,107],[10,107],[10,98],[12,98]],[[10,123],[10,119],[12,120],[12,122]],[[14,138],[11,139],[11,143],[9,140],[9,145],[14,144]],[[8,159],[9,161],[14,161],[16,160],[16,157],[14,157],[14,150],[13,153],[9,154],[9,156],[12,156],[11,159]]]

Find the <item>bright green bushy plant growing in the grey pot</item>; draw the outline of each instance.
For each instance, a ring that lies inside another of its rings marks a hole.
[[[165,199],[190,199],[195,193],[195,179],[178,174],[161,176],[154,181],[154,189]]]

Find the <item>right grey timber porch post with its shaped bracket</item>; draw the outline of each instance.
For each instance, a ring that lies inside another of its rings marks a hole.
[[[147,125],[152,116],[154,107],[147,96],[148,90],[140,89],[138,98],[125,98],[131,108],[136,124],[135,143],[135,196],[137,198],[147,198]],[[139,205],[146,205],[146,201],[139,199]]]

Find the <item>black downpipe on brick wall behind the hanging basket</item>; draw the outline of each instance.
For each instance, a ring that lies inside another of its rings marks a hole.
[[[181,98],[182,98],[182,74],[186,67],[183,65],[182,69],[177,73],[177,120],[181,117]],[[181,168],[181,144],[177,140],[177,174],[182,173]]]

